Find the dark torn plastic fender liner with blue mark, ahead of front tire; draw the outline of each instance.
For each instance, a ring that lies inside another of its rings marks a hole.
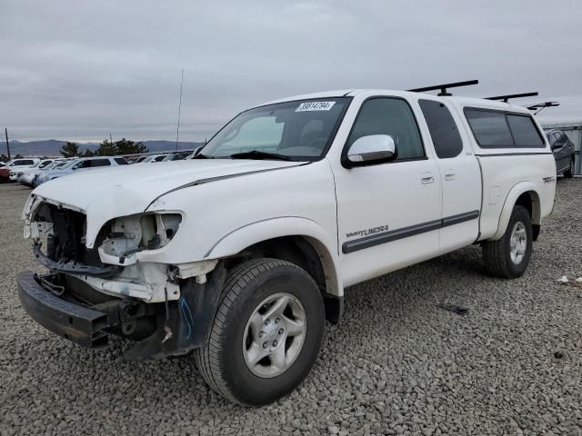
[[[137,342],[124,359],[180,355],[202,347],[208,340],[226,281],[223,263],[218,263],[209,276],[204,284],[194,278],[182,282],[180,299],[167,303],[167,317],[166,310],[158,311],[156,332]],[[165,330],[165,326],[169,329]]]

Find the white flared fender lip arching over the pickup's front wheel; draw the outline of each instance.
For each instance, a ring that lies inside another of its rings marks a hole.
[[[304,236],[319,254],[326,273],[327,292],[336,297],[344,295],[336,235],[327,234],[322,226],[308,218],[281,216],[238,227],[210,247],[206,252],[205,260],[232,256],[255,243],[282,236]]]

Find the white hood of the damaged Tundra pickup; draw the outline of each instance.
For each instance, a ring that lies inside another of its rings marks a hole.
[[[33,195],[86,214],[87,246],[107,221],[154,210],[164,194],[236,175],[295,166],[297,162],[232,159],[190,159],[153,164],[136,163],[71,173],[43,183]],[[25,210],[25,213],[27,211]]]

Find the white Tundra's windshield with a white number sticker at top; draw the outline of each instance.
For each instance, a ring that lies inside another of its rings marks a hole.
[[[273,158],[316,160],[326,152],[350,100],[322,98],[256,107],[226,124],[202,149],[201,157],[245,154],[252,159],[274,154]]]

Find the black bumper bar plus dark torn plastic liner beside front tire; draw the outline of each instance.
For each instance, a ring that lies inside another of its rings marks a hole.
[[[220,264],[206,283],[194,278],[183,281],[183,292],[176,301],[145,303],[114,298],[90,306],[78,302],[70,292],[73,288],[63,288],[63,295],[45,290],[33,272],[21,272],[17,282],[23,308],[45,329],[87,348],[105,347],[109,334],[135,340],[124,356],[133,360],[184,354],[202,347],[208,341],[225,280],[226,269]],[[60,287],[55,290],[60,292]],[[125,330],[132,326],[131,333]]]

